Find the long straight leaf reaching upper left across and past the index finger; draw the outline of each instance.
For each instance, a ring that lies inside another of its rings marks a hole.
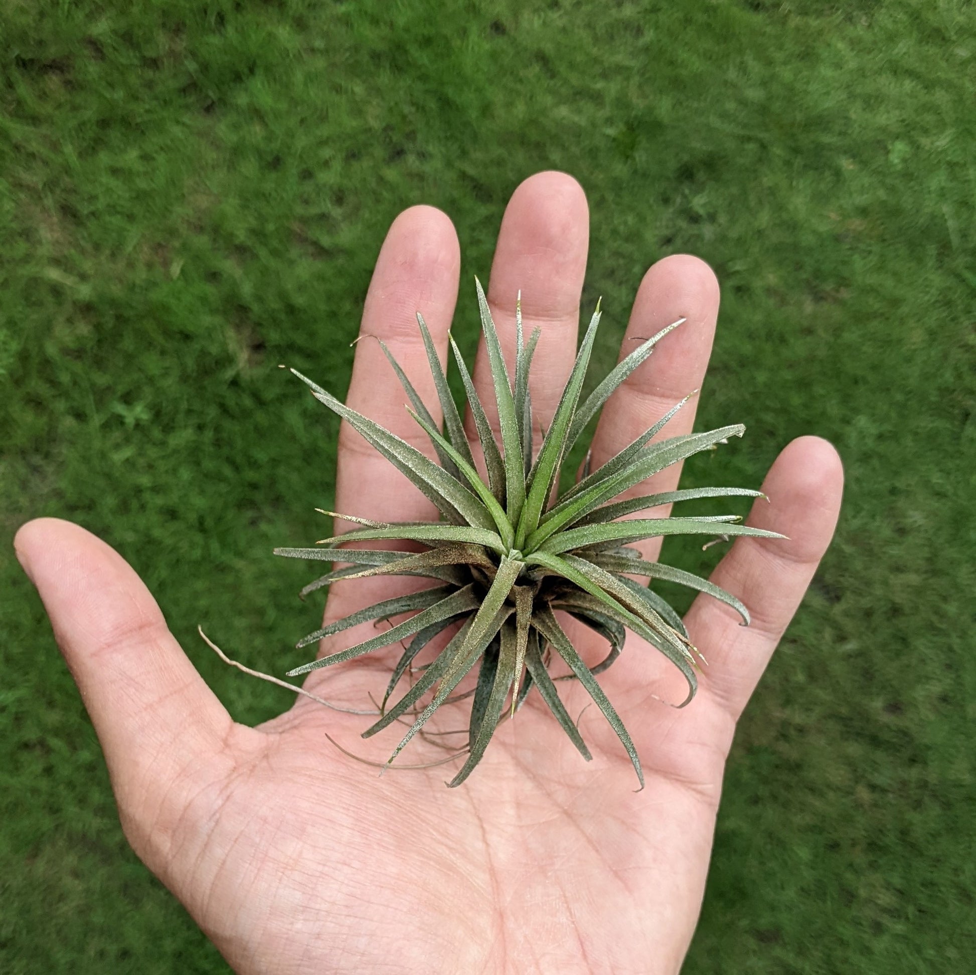
[[[416,447],[412,447],[405,440],[390,433],[389,430],[374,423],[361,413],[356,413],[345,403],[341,403],[331,393],[321,386],[316,386],[300,372],[292,372],[306,386],[312,395],[325,404],[334,413],[341,416],[349,426],[359,432],[401,473],[410,478],[421,491],[427,495],[450,521],[461,520],[478,528],[492,528],[493,522],[487,508],[468,491],[457,478],[448,473],[443,467],[438,467],[433,461],[425,457]]]

